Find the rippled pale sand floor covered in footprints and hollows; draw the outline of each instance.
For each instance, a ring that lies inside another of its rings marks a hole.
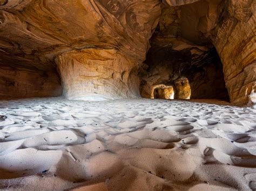
[[[250,108],[42,98],[0,115],[0,189],[256,189]]]

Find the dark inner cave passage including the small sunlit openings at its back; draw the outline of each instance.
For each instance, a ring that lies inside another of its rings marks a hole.
[[[215,48],[199,55],[192,52],[191,48],[176,51],[171,47],[152,46],[140,83],[142,97],[228,101],[223,65]]]

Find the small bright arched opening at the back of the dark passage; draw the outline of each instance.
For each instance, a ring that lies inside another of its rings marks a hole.
[[[166,86],[164,84],[154,86],[151,91],[151,98],[173,100],[174,88],[172,86]]]

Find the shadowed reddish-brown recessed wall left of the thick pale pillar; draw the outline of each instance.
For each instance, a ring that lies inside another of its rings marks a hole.
[[[0,67],[0,98],[62,95],[59,76],[27,68]]]

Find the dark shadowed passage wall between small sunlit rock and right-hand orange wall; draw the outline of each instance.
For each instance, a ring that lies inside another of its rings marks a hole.
[[[208,98],[229,101],[224,80],[223,64],[215,48],[194,58],[192,62],[201,63],[200,67],[192,67],[187,71],[191,87],[191,98]],[[192,63],[192,65],[194,65]]]

